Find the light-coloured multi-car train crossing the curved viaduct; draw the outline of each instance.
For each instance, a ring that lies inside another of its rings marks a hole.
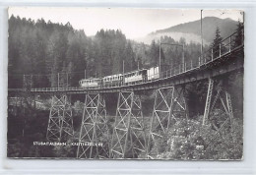
[[[79,81],[82,88],[121,87],[146,83],[160,78],[159,67],[141,69],[125,74],[115,74],[103,78],[89,78]]]

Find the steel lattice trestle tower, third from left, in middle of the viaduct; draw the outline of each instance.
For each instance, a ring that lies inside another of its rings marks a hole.
[[[146,155],[146,134],[140,96],[119,92],[112,133],[110,158],[136,158]],[[130,151],[130,152],[129,152]]]

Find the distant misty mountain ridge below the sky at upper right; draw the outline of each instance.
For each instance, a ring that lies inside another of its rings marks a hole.
[[[151,40],[158,40],[160,36],[167,35],[171,36],[175,40],[179,40],[180,37],[185,37],[187,42],[201,42],[200,35],[200,20],[189,22],[185,24],[180,24],[167,29],[159,29],[157,31],[151,32],[145,37],[138,38],[138,41],[150,44]],[[202,20],[203,23],[203,38],[204,43],[209,44],[215,38],[216,28],[219,27],[221,30],[221,35],[227,37],[229,34],[235,31],[238,22],[231,19],[219,19],[217,17],[205,17]]]

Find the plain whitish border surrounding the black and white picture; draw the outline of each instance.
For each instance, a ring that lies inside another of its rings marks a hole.
[[[244,69],[244,160],[15,160],[6,158],[7,141],[7,61],[9,6],[51,7],[133,7],[133,8],[233,8],[245,12]],[[0,174],[256,174],[256,2],[241,0],[179,1],[70,1],[0,0]],[[255,58],[254,58],[255,57]]]

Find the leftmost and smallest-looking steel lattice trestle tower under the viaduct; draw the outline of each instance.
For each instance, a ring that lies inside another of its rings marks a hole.
[[[60,142],[67,136],[74,135],[71,104],[66,94],[53,95],[48,120],[46,138]]]

